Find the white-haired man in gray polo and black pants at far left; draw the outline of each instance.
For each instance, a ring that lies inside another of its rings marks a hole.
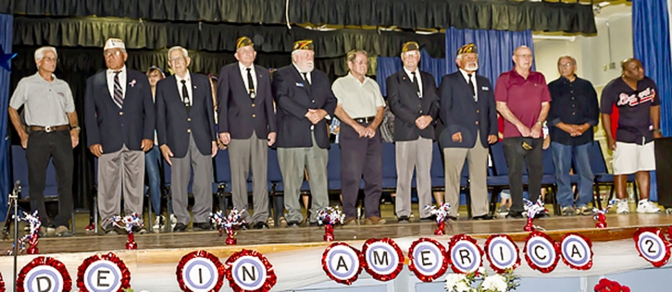
[[[58,55],[51,46],[35,51],[37,73],[19,81],[9,103],[12,125],[26,148],[30,206],[42,221],[42,235],[55,228],[59,237],[71,236],[69,218],[72,213],[72,149],[79,144],[80,127],[70,86],[56,78]],[[26,125],[21,124],[17,109],[24,107]],[[28,130],[28,131],[26,131]],[[28,143],[30,142],[30,143]],[[44,206],[46,167],[53,158],[58,184],[58,216],[49,222]]]

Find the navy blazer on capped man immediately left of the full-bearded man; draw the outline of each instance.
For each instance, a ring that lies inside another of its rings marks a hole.
[[[252,130],[257,138],[266,140],[276,131],[271,78],[268,69],[254,66],[256,98],[250,98],[240,75],[238,62],[223,66],[217,84],[218,131],[229,132],[233,139],[247,139]],[[245,77],[247,78],[247,76]]]

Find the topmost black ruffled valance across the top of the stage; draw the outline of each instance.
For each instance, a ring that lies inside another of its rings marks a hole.
[[[6,0],[0,13],[285,24],[285,0]],[[591,5],[503,0],[290,0],[292,24],[597,33]]]

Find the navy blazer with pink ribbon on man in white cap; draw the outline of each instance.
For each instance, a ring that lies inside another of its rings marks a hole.
[[[121,109],[107,87],[107,70],[87,80],[84,120],[87,146],[103,145],[103,154],[126,145],[141,150],[143,139],[154,140],[154,100],[144,73],[126,69],[126,88]]]

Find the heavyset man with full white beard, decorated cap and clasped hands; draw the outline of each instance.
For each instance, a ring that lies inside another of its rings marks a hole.
[[[334,116],[336,98],[327,75],[315,70],[312,40],[294,42],[292,64],[273,73],[277,106],[278,163],[285,184],[285,218],[289,227],[299,227],[299,188],[303,168],[310,176],[311,225],[317,225],[317,210],[328,206],[326,165],[329,133],[326,118]]]

